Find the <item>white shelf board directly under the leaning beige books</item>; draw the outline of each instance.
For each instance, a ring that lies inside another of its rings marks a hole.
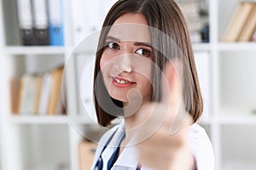
[[[232,43],[225,43],[220,42],[218,43],[218,50],[219,51],[256,51],[256,42],[232,42]]]

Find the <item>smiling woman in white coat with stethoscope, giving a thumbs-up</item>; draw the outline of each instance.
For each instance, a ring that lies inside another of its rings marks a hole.
[[[103,127],[91,169],[214,169],[195,122],[201,90],[189,33],[171,0],[119,0],[102,26],[94,98]]]

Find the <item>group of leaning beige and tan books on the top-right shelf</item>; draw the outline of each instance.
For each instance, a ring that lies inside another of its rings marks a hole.
[[[256,2],[237,3],[221,41],[256,41]]]

